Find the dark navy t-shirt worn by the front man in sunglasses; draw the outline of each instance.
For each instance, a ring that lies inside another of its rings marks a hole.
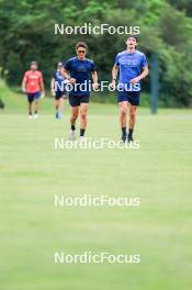
[[[69,58],[65,64],[64,68],[69,71],[70,77],[76,79],[76,86],[74,86],[72,90],[69,92],[70,96],[89,96],[91,91],[91,71],[95,70],[95,66],[93,60],[83,59],[80,60],[78,57]],[[81,83],[87,83],[84,86],[80,86]]]

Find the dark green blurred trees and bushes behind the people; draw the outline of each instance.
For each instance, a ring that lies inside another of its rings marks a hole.
[[[3,71],[9,71],[10,83],[20,85],[30,62],[36,59],[49,87],[56,63],[75,55],[76,42],[83,40],[100,79],[110,80],[116,53],[126,48],[126,35],[55,35],[54,24],[139,26],[138,49],[146,53],[149,66],[151,53],[159,56],[161,101],[166,105],[191,105],[192,20],[189,2],[1,0],[0,66]],[[149,91],[149,79],[144,81],[144,91]]]

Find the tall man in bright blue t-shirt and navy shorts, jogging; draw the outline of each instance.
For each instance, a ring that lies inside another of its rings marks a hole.
[[[116,77],[120,70],[117,99],[120,104],[120,123],[122,140],[133,141],[133,131],[136,122],[136,108],[139,105],[140,80],[148,75],[147,59],[144,53],[136,51],[137,38],[128,36],[127,49],[118,53],[112,69],[112,86],[116,87]],[[129,104],[129,131],[126,133],[126,115]]]

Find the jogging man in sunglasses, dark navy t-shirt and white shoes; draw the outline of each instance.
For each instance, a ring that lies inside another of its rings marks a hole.
[[[98,88],[98,74],[93,60],[86,58],[87,44],[79,42],[76,45],[76,57],[64,64],[63,76],[69,80],[69,103],[71,105],[70,140],[75,140],[76,120],[80,112],[80,140],[83,141],[87,127],[87,113],[91,91]]]

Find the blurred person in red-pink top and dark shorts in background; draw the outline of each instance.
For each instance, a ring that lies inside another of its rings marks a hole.
[[[27,96],[29,101],[29,116],[32,119],[32,105],[35,102],[34,118],[37,118],[38,114],[38,100],[41,94],[45,96],[45,88],[43,81],[43,75],[37,70],[37,63],[31,63],[31,70],[25,71],[23,81],[22,81],[23,92]]]

